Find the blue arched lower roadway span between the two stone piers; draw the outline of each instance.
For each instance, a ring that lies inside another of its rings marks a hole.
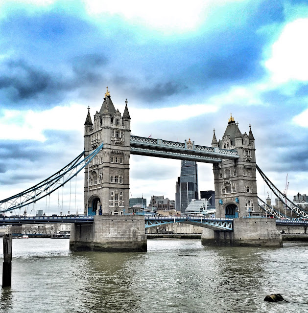
[[[206,218],[203,216],[146,216],[145,228],[171,223],[192,224],[213,230],[233,230],[233,219]]]

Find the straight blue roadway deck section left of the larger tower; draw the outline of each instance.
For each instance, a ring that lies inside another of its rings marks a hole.
[[[67,224],[67,223],[93,223],[92,215],[74,215],[74,216],[12,216],[0,217],[0,226],[2,225],[23,225],[23,224]]]

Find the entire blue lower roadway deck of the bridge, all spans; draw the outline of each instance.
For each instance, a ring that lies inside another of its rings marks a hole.
[[[125,214],[125,216],[133,216]],[[93,215],[81,216],[14,216],[0,217],[0,226],[23,225],[23,224],[91,224],[94,221]],[[192,224],[213,230],[233,231],[233,219],[205,218],[203,216],[145,216],[145,228],[171,223]],[[301,220],[276,220],[277,225],[308,226],[308,221]]]

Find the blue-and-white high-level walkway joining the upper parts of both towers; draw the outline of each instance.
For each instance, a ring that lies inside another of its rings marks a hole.
[[[130,151],[132,155],[157,156],[205,163],[220,163],[222,159],[236,160],[236,150],[227,150],[183,143],[163,139],[146,138],[131,135]]]

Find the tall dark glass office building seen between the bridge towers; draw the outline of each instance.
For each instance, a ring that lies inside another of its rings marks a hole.
[[[194,161],[182,161],[181,176],[175,186],[175,208],[185,214],[192,199],[198,197],[198,168]]]

